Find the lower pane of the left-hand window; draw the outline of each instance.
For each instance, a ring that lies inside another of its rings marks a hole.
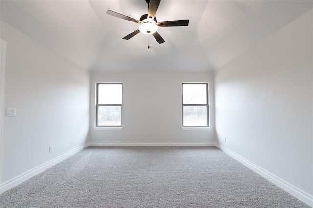
[[[122,107],[121,106],[99,106],[98,126],[121,126]]]

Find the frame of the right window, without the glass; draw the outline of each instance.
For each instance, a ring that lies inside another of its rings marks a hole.
[[[205,84],[206,87],[206,104],[184,104],[184,92],[183,86],[184,84]],[[182,98],[182,128],[208,128],[210,127],[210,111],[209,111],[209,83],[182,83],[181,84],[181,98]],[[207,113],[207,121],[206,125],[184,125],[184,106],[206,106],[206,113]]]

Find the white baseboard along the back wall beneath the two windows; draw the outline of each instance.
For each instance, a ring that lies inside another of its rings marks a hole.
[[[215,146],[215,142],[89,142],[89,146]]]

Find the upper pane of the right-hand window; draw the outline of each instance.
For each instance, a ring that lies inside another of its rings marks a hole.
[[[183,84],[182,104],[207,104],[207,84]]]

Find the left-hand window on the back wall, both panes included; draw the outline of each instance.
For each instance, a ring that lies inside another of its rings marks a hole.
[[[122,83],[97,83],[96,127],[122,126]]]

